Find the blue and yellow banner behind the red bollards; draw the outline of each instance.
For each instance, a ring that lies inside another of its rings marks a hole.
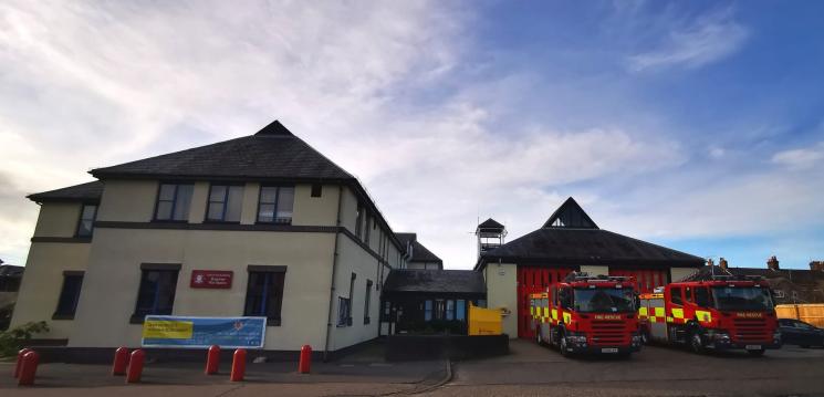
[[[262,348],[267,317],[182,317],[147,315],[143,347]]]

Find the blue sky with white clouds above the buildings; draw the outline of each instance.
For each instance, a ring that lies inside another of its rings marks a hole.
[[[0,259],[25,195],[281,121],[471,269],[574,197],[603,229],[824,259],[824,2],[3,1]]]

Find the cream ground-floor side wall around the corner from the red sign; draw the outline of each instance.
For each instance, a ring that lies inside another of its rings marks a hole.
[[[378,260],[372,257],[348,237],[338,237],[338,263],[335,274],[335,293],[332,313],[330,351],[336,351],[356,343],[377,337],[379,314],[379,291],[377,291]],[[352,289],[352,325],[337,326],[338,297],[348,296],[352,273],[356,274]],[[388,272],[385,272],[388,274]],[[364,324],[366,280],[372,280],[369,324]]]

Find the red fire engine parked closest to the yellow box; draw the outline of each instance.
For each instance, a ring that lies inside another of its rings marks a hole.
[[[633,284],[626,276],[573,272],[546,292],[531,294],[538,343],[556,346],[564,356],[640,351]]]

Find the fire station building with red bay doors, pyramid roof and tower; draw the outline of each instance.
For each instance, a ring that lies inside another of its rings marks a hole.
[[[483,273],[489,307],[504,312],[503,331],[511,337],[534,337],[529,294],[572,271],[632,275],[637,291],[649,292],[705,264],[702,258],[598,228],[573,198],[540,229],[503,243],[505,232],[492,219],[479,224],[474,269]]]

